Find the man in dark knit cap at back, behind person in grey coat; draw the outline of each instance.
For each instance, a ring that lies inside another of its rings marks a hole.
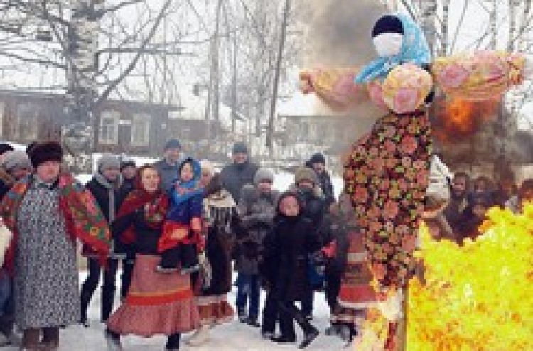
[[[232,198],[239,200],[242,187],[254,183],[254,176],[259,167],[249,161],[248,147],[242,142],[233,145],[232,156],[233,163],[222,168],[220,177]]]

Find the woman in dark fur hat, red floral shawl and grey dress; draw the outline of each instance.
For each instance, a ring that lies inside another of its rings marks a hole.
[[[35,173],[15,183],[0,207],[14,234],[6,266],[14,274],[21,348],[57,350],[60,326],[80,321],[76,240],[105,259],[109,227],[92,195],[60,173],[59,144],[36,144],[29,156]]]

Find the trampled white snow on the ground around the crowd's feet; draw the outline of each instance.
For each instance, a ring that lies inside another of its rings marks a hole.
[[[86,274],[80,274],[80,281],[85,279]],[[117,283],[119,283],[119,274],[117,274]],[[236,287],[229,294],[228,299],[232,305],[235,305]],[[265,294],[262,292],[262,306],[264,306]],[[117,300],[115,306],[119,306]],[[90,306],[90,327],[85,328],[81,325],[74,325],[61,330],[59,351],[105,351],[107,350],[104,340],[104,325],[99,322],[100,311],[100,291],[95,291],[95,295]],[[325,303],[323,293],[316,293],[315,308],[313,311],[313,325],[321,331],[321,335],[306,350],[349,350],[343,347],[340,339],[325,336],[324,330],[328,326],[328,306]],[[210,341],[200,347],[191,347],[182,342],[180,350],[196,351],[276,351],[276,350],[298,350],[297,345],[276,345],[274,342],[263,340],[260,334],[260,328],[254,328],[249,325],[239,323],[237,320],[225,325],[218,325],[211,331]],[[301,340],[301,333],[298,326],[298,339]],[[184,335],[183,338],[187,338]],[[122,339],[122,345],[126,351],[159,351],[163,350],[166,338],[158,336],[154,338],[138,338],[127,336]],[[0,347],[2,351],[17,351],[18,347]]]

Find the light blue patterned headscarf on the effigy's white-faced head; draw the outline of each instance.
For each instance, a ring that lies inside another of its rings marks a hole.
[[[402,13],[394,13],[404,28],[404,41],[402,50],[398,55],[380,57],[365,66],[355,77],[355,83],[361,84],[372,80],[383,80],[387,74],[402,63],[414,63],[417,66],[431,63],[431,52],[426,41],[426,36],[418,24],[409,16]]]

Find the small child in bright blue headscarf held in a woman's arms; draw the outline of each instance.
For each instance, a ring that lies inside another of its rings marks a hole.
[[[198,271],[198,251],[201,245],[203,189],[200,188],[201,167],[187,158],[178,169],[178,180],[169,190],[171,200],[163,234],[158,242],[161,263],[157,271],[181,274]]]

